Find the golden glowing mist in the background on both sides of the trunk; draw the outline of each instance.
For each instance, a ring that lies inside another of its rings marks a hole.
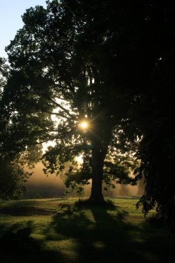
[[[43,169],[44,165],[38,163],[33,170],[33,175],[30,176],[26,184],[27,191],[23,198],[26,199],[39,199],[39,198],[55,198],[63,197],[66,190],[64,182],[60,176],[50,174],[46,176]],[[103,190],[104,197],[117,197],[117,196],[137,196],[142,195],[144,192],[143,180],[139,181],[138,185],[116,185],[116,188],[109,188],[107,191]],[[84,194],[81,197],[89,197],[91,194],[91,184],[86,185]],[[70,194],[70,197],[80,197],[76,193]]]

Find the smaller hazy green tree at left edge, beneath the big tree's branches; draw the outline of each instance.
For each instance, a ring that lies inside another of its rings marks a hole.
[[[33,172],[26,172],[26,167],[32,169],[41,158],[42,147],[35,145],[25,151],[14,154],[1,147],[0,154],[0,199],[19,199],[26,191],[26,182]],[[8,154],[6,154],[8,152]]]

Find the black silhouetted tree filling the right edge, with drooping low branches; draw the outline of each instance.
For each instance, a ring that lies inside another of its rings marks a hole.
[[[142,134],[137,156],[140,177],[145,177],[145,194],[138,206],[147,212],[156,206],[164,221],[174,221],[174,2],[155,1],[147,17],[154,61],[147,89],[136,98],[133,127]]]

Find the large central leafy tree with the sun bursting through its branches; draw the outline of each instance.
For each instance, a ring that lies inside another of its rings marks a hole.
[[[149,72],[145,5],[48,1],[46,9],[26,11],[24,27],[6,48],[11,71],[3,100],[18,131],[12,132],[15,147],[53,140],[44,163],[57,173],[82,154],[84,162],[71,165],[67,185],[77,188],[91,178],[92,201],[103,201],[102,179],[134,183],[127,176],[131,160],[124,165],[120,152],[128,150],[131,158],[136,149],[136,133],[127,136],[122,126]]]

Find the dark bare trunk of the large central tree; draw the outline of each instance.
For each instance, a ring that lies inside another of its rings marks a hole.
[[[104,198],[102,195],[102,175],[104,157],[100,149],[92,150],[92,188],[89,201],[93,203],[102,203]]]

